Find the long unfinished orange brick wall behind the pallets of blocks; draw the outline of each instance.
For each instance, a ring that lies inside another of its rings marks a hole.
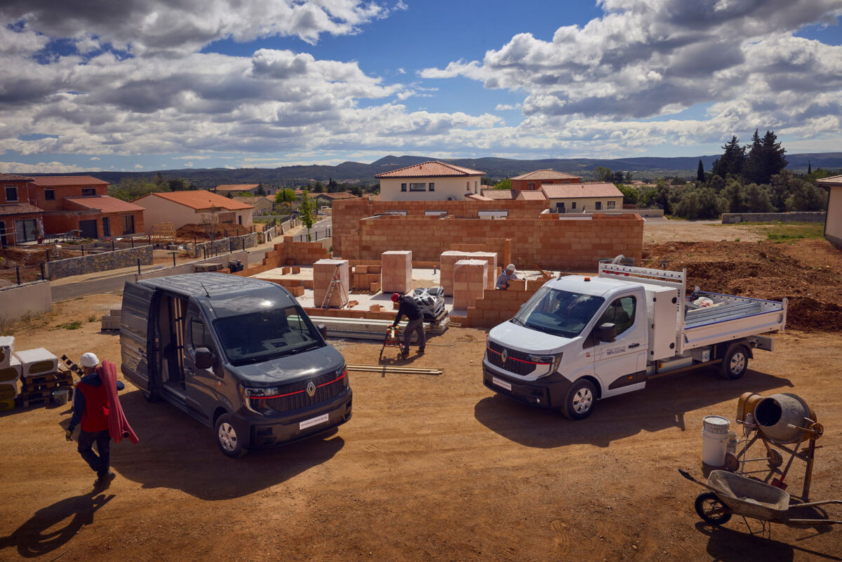
[[[343,236],[343,257],[376,259],[398,247],[412,250],[418,261],[437,261],[442,252],[503,238],[509,239],[509,260],[518,269],[595,271],[602,257],[641,259],[643,220],[638,215],[591,215],[589,220],[380,216],[360,220],[357,232]],[[498,260],[509,263],[499,254]]]

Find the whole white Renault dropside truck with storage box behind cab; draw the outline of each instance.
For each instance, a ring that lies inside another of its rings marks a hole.
[[[482,382],[580,420],[596,400],[641,390],[660,374],[718,364],[738,379],[754,348],[772,350],[763,334],[784,329],[786,299],[686,294],[685,283],[686,271],[610,263],[596,278],[552,279],[488,333]]]

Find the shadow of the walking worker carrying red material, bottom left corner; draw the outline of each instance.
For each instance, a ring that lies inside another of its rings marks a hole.
[[[81,528],[93,523],[93,514],[114,498],[98,490],[46,506],[8,537],[0,537],[0,552],[17,547],[23,558],[35,558],[66,544]],[[3,556],[0,556],[3,558]]]

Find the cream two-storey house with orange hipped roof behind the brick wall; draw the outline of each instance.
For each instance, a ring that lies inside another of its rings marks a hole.
[[[480,192],[485,172],[429,161],[378,173],[381,201],[463,201]]]

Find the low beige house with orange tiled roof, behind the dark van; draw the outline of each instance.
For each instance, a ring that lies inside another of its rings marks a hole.
[[[218,221],[221,225],[251,226],[254,205],[228,199],[205,189],[147,194],[132,201],[143,207],[146,231],[152,226],[168,222],[176,228],[200,225],[202,221]]]

